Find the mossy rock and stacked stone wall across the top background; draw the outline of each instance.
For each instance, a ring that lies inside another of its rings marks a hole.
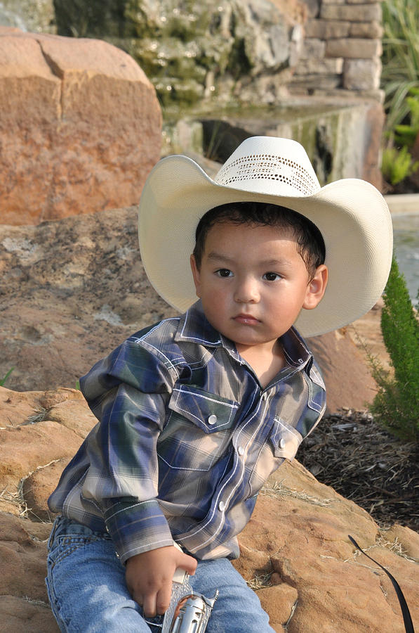
[[[226,93],[273,103],[287,89],[380,100],[381,1],[3,0],[0,25],[107,39],[162,103]]]

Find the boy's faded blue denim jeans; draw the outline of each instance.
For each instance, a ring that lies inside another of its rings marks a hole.
[[[215,602],[206,633],[274,633],[258,596],[227,558],[198,561],[192,588]],[[141,607],[130,596],[125,568],[106,533],[63,517],[48,542],[48,596],[64,633],[149,633]]]

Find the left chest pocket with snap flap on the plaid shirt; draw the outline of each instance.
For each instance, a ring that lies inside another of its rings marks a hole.
[[[208,471],[227,449],[238,408],[197,387],[175,387],[157,443],[159,459],[182,471]]]

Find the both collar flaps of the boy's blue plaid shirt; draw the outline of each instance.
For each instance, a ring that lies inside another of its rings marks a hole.
[[[201,300],[194,303],[187,312],[180,316],[175,340],[190,341],[209,347],[224,347],[232,357],[239,362],[241,361],[236,345],[215,330],[206,319]],[[289,329],[281,336],[281,343],[284,346],[286,361],[293,369],[297,367],[302,369],[312,360],[310,350],[295,328]]]

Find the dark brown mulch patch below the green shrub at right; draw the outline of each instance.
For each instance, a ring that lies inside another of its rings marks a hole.
[[[298,461],[381,527],[401,523],[419,532],[419,447],[395,438],[371,414],[325,416],[302,442]]]

